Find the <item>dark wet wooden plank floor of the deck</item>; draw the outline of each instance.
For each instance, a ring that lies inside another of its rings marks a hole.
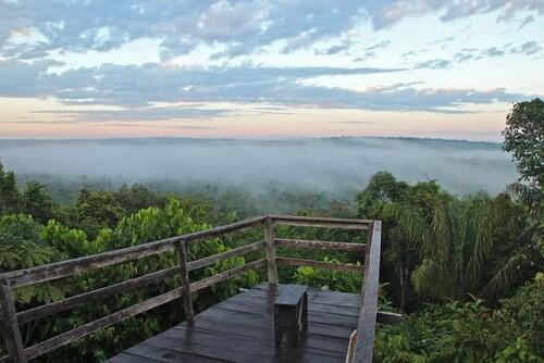
[[[197,314],[193,325],[180,324],[108,362],[345,362],[358,295],[309,289],[308,333],[299,348],[274,347],[274,297],[272,285],[258,285]]]

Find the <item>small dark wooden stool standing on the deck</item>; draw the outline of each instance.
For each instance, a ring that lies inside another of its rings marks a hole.
[[[283,337],[298,347],[300,334],[308,329],[308,287],[286,285],[274,302],[274,341],[279,347]]]

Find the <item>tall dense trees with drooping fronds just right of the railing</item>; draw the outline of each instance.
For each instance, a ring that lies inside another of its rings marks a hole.
[[[408,185],[381,172],[358,196],[358,213],[383,223],[383,270],[404,311],[470,293],[496,300],[539,268],[519,255],[532,241],[520,234],[529,218],[506,193],[457,198],[435,182]],[[506,272],[516,256],[527,268]]]

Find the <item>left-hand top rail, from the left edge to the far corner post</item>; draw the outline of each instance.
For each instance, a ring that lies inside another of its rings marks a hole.
[[[149,255],[165,252],[172,250],[174,248],[174,245],[178,241],[195,243],[235,230],[240,231],[252,228],[261,224],[263,218],[264,217],[259,216],[225,226],[195,231],[184,236],[161,239],[158,241],[128,247],[120,250],[98,253],[58,263],[51,263],[32,268],[11,271],[0,274],[0,280],[8,281],[11,287],[18,287],[66,277],[89,270],[106,267],[113,264],[128,262],[136,259],[143,259]]]

